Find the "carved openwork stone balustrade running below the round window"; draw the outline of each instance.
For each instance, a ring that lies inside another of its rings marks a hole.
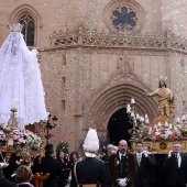
[[[111,48],[132,48],[132,50],[155,50],[160,52],[178,52],[187,53],[187,40],[176,35],[155,35],[155,34],[135,34],[131,35],[119,35],[111,33],[99,33],[97,31],[89,31],[82,26],[69,32],[63,33],[54,32],[51,35],[52,46],[47,50],[56,48],[99,48],[99,50],[111,50]]]

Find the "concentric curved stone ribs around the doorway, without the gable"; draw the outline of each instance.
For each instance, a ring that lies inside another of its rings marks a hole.
[[[119,109],[125,108],[131,98],[136,101],[136,112],[148,114],[151,121],[157,116],[157,105],[154,99],[145,97],[144,89],[129,82],[119,84],[102,92],[91,105],[86,128],[92,127],[98,131],[107,131],[110,117]]]

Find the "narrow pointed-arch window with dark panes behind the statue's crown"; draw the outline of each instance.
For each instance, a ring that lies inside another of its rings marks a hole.
[[[20,19],[19,23],[24,25],[22,34],[24,35],[26,45],[34,46],[34,20],[26,13]]]

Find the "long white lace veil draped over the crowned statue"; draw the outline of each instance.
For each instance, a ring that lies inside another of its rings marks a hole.
[[[44,90],[36,57],[20,32],[11,32],[0,48],[0,123],[10,119],[11,101],[19,99],[19,127],[46,119]]]

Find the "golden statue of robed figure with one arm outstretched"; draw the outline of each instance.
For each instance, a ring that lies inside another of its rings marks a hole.
[[[174,95],[169,88],[167,88],[165,80],[160,80],[160,86],[156,90],[148,94],[147,97],[158,96],[158,110],[160,114],[165,117],[173,117],[175,110]]]

